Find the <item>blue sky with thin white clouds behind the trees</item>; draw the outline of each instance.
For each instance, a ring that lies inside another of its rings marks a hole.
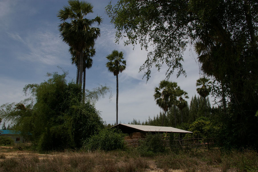
[[[124,52],[127,64],[126,70],[119,74],[118,121],[128,123],[133,119],[145,121],[153,118],[162,111],[153,94],[154,87],[166,78],[166,67],[160,72],[153,68],[150,80],[146,82],[144,72],[139,72],[139,68],[148,52],[139,46],[134,49],[131,45],[124,46],[122,41],[115,43],[114,25],[105,13],[109,0],[87,2],[94,7],[94,12],[87,18],[93,19],[98,15],[103,22],[99,26],[101,36],[96,40],[92,68],[86,71],[86,88],[106,84],[112,88],[113,95],[111,99],[106,95],[96,103],[101,118],[107,124],[116,121],[116,78],[105,66],[105,57],[113,50]],[[57,18],[57,12],[67,4],[67,0],[0,0],[0,105],[26,98],[23,87],[47,80],[47,72],[62,74],[60,68],[63,68],[69,72],[68,81],[76,79],[76,67],[71,64],[69,47],[62,42],[58,31],[62,22]],[[200,75],[196,58],[191,47],[187,48],[183,62],[187,77],[177,78],[175,72],[169,79],[187,91],[189,104],[191,97],[198,95],[195,83]]]

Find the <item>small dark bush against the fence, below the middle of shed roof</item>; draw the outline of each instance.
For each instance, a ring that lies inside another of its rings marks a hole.
[[[160,134],[147,134],[146,139],[140,143],[139,153],[144,156],[151,156],[153,153],[164,152],[165,146],[163,146],[161,137]]]

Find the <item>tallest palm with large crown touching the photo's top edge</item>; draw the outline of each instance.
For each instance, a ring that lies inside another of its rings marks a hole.
[[[60,21],[64,21],[59,25],[60,37],[70,47],[77,52],[79,58],[79,84],[82,84],[82,73],[83,73],[83,50],[94,46],[94,42],[97,37],[100,36],[99,28],[91,27],[94,23],[98,26],[102,22],[102,19],[97,16],[95,19],[86,19],[89,13],[92,13],[93,6],[84,1],[69,0],[69,6],[64,6],[60,9],[57,17]],[[67,20],[70,23],[66,22]]]

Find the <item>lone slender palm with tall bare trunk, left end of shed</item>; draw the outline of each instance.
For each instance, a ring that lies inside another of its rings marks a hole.
[[[108,59],[106,63],[108,71],[116,76],[116,124],[118,124],[118,74],[126,69],[126,61],[123,60],[123,54],[122,51],[114,50],[106,57]]]

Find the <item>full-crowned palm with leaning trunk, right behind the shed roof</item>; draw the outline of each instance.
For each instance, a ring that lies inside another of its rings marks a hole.
[[[166,116],[166,112],[168,109],[176,103],[177,101],[177,90],[180,89],[177,86],[177,82],[170,82],[167,80],[160,81],[159,87],[155,87],[154,99],[156,100],[156,104],[163,109],[164,115],[162,120],[162,126],[164,124],[164,119]],[[176,123],[176,116],[175,116]]]

